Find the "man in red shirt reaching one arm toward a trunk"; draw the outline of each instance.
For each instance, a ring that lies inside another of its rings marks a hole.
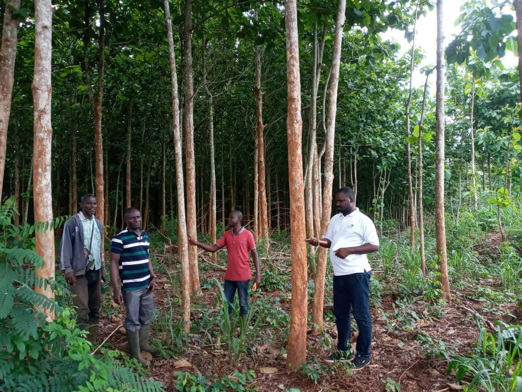
[[[248,251],[252,254],[252,260],[254,261],[254,267],[256,269],[255,282],[257,284],[261,283],[261,271],[254,236],[250,230],[242,226],[242,220],[243,214],[241,211],[232,211],[228,220],[228,225],[232,229],[225,232],[216,244],[202,244],[192,239],[191,236],[188,236],[188,243],[212,253],[223,247],[227,247],[227,272],[225,272],[223,291],[229,303],[229,314],[232,313],[231,304],[234,302],[235,292],[238,292],[240,315],[243,325],[245,325],[246,315],[248,314],[248,283],[250,283],[250,279],[252,278]]]

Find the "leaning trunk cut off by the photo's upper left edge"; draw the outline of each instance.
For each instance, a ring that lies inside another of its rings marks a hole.
[[[7,0],[0,44],[0,200],[4,186],[5,153],[7,148],[7,128],[11,113],[11,95],[15,83],[16,43],[18,36],[18,16],[13,12],[20,9],[20,0]]]

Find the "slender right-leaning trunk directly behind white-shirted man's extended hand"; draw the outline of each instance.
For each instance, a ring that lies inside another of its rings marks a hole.
[[[332,187],[334,183],[334,140],[335,118],[337,114],[337,87],[341,59],[342,32],[345,26],[346,0],[339,0],[335,22],[334,49],[332,53],[330,84],[328,88],[328,119],[325,133],[323,207],[321,214],[321,233],[326,234],[330,221]],[[293,227],[292,227],[293,229]],[[312,323],[316,329],[323,329],[324,282],[326,274],[326,248],[319,247],[315,274],[315,291],[312,310]]]

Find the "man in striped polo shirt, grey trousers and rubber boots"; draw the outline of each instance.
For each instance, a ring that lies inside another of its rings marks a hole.
[[[125,304],[125,330],[132,358],[143,366],[150,362],[141,358],[141,351],[158,355],[159,350],[149,346],[150,318],[154,308],[152,292],[156,276],[149,259],[149,236],[141,230],[141,214],[133,207],[125,210],[127,228],[112,239],[111,283],[114,302]],[[118,283],[118,272],[122,287]]]

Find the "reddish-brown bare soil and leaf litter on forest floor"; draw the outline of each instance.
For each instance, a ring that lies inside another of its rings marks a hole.
[[[201,281],[217,278],[222,282],[223,275],[224,272],[221,270],[208,270],[201,274],[200,278]],[[155,291],[155,303],[158,309],[167,300],[167,292],[171,291],[169,290],[171,281],[168,276],[160,275],[159,278]],[[468,286],[467,290],[476,290],[478,286],[489,286],[491,290],[500,290],[498,282],[491,279],[477,282],[475,288]],[[217,287],[202,290],[200,301],[212,308],[216,303],[217,291]],[[442,306],[436,318],[421,316],[416,320],[405,319],[404,322],[409,326],[407,328],[404,324],[401,325],[400,321],[397,324],[397,319],[394,321],[396,324],[387,320],[387,315],[397,315],[396,309],[399,306],[395,304],[395,294],[384,296],[381,307],[371,308],[373,320],[371,363],[357,372],[351,372],[345,366],[341,366],[334,374],[322,374],[321,378],[314,382],[311,377],[288,370],[281,355],[281,348],[275,347],[274,344],[270,346],[260,344],[256,348],[255,359],[251,355],[243,355],[242,360],[234,366],[229,364],[227,351],[210,349],[206,351],[194,344],[194,347],[183,349],[183,356],[152,359],[150,376],[163,383],[168,391],[177,390],[174,387],[177,379],[175,372],[196,374],[196,371],[199,371],[208,378],[219,378],[231,376],[234,370],[241,372],[253,370],[256,374],[254,384],[248,386],[258,388],[259,391],[285,391],[290,388],[298,388],[300,391],[366,392],[461,390],[462,387],[458,385],[454,375],[446,375],[448,362],[441,358],[440,353],[447,350],[455,356],[472,352],[479,336],[478,324],[487,326],[490,332],[494,332],[495,321],[508,317],[510,318],[508,321],[515,323],[517,321],[512,319],[520,319],[520,310],[513,304],[496,303],[492,307],[490,303],[467,299],[465,291],[466,289],[452,292],[453,301]],[[275,290],[262,291],[255,295],[275,297],[282,294],[286,293]],[[105,295],[110,296],[111,293],[107,292]],[[116,307],[115,304],[113,305]],[[289,302],[281,302],[281,306],[290,314]],[[325,302],[325,313],[328,306]],[[421,300],[411,306],[408,314],[414,312],[417,315],[427,315],[429,311],[427,306],[430,305]],[[123,306],[119,310],[120,313],[117,315],[102,318],[100,342],[117,329],[118,325],[123,324],[125,317]],[[396,328],[390,327],[390,324],[395,325]],[[335,323],[325,323],[325,333],[329,334],[334,343],[336,342]],[[419,336],[426,338],[419,340]],[[352,333],[352,342],[356,337],[357,332]],[[322,361],[323,356],[329,354],[329,350],[323,349],[323,340],[323,335],[314,336],[312,333],[307,335],[307,345],[310,348],[307,353],[308,363],[313,363],[313,356]],[[105,347],[127,352],[126,338],[116,332],[109,337]]]

